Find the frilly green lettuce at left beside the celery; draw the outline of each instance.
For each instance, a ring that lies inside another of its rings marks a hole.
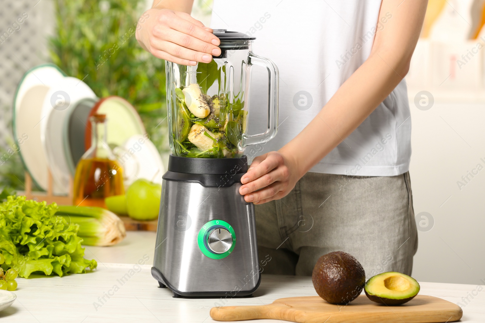
[[[18,276],[85,273],[95,260],[84,259],[79,225],[54,215],[57,204],[9,196],[0,203],[0,252],[3,270],[14,268]]]

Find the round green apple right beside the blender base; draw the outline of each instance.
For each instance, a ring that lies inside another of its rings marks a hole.
[[[126,192],[128,215],[135,220],[154,220],[158,217],[162,185],[144,179],[129,185]]]

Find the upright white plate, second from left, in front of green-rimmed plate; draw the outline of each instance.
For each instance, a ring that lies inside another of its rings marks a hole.
[[[40,136],[47,156],[56,194],[69,193],[71,170],[66,159],[63,125],[79,102],[96,100],[96,94],[76,77],[65,77],[52,84],[44,97]],[[85,121],[84,121],[85,122]]]

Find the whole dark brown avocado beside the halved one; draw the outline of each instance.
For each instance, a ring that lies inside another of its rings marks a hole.
[[[318,259],[311,280],[315,291],[325,301],[346,305],[362,292],[365,272],[354,256],[335,251]]]

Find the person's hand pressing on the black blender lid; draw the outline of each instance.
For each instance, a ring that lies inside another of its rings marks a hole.
[[[219,38],[191,15],[169,9],[150,9],[136,30],[138,43],[153,56],[182,65],[208,63],[221,55]]]

